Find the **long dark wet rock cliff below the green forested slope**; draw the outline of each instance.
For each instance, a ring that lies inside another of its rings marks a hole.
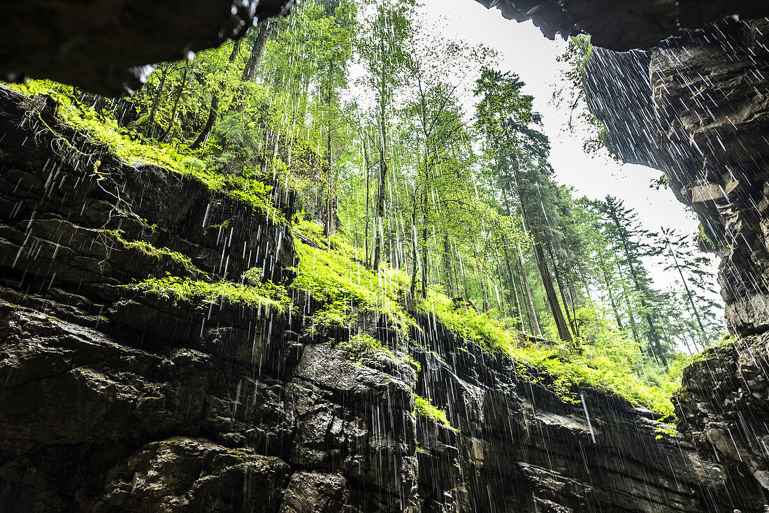
[[[0,511],[651,513],[744,491],[653,412],[564,400],[434,318],[408,338],[416,372],[355,361],[296,291],[279,314],[131,287],[287,283],[294,239],[274,209],[118,160],[51,98],[0,88],[0,127]],[[416,395],[453,427],[414,415]]]

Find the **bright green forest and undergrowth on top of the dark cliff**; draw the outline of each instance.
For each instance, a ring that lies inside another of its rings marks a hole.
[[[707,237],[645,227],[621,198],[575,197],[555,182],[515,70],[441,37],[416,8],[303,2],[236,42],[161,63],[125,98],[12,87],[50,96],[59,118],[125,162],[225,190],[295,235],[290,283],[252,269],[239,283],[168,275],[136,288],[277,310],[291,308],[287,288],[308,291],[325,305],[317,329],[348,330],[358,351],[387,350],[358,332],[358,308],[404,333],[414,315],[434,315],[551,373],[564,395],[591,385],[671,413],[681,368],[724,338]],[[590,54],[574,38],[562,56],[563,108],[596,128],[588,149],[601,129],[581,98]],[[654,266],[676,286],[658,288]]]

